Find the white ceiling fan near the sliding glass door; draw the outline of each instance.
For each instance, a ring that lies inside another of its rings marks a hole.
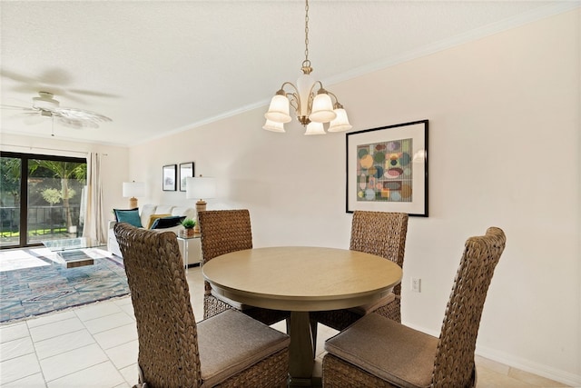
[[[1,105],[2,109],[18,109],[23,114],[52,117],[60,124],[73,128],[98,128],[100,123],[112,121],[103,114],[76,108],[64,108],[54,99],[50,92],[38,92],[38,97],[33,97],[32,107]]]

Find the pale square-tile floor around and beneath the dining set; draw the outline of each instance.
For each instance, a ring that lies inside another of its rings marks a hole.
[[[193,313],[202,318],[202,274],[188,274]],[[284,330],[284,323],[275,325]],[[315,373],[323,343],[336,333],[319,326]],[[127,388],[137,382],[137,333],[130,297],[94,303],[0,326],[3,388]],[[477,357],[478,388],[563,387],[531,373]]]

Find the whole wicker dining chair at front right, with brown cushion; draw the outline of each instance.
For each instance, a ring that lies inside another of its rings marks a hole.
[[[474,387],[478,326],[506,236],[490,227],[470,237],[439,338],[368,314],[325,343],[325,387]]]

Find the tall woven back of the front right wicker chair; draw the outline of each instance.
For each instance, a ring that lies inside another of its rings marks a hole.
[[[434,387],[466,387],[476,373],[474,351],[488,286],[507,243],[504,232],[490,227],[468,238],[438,340]]]

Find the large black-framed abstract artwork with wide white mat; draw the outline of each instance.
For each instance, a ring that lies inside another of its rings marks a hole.
[[[428,120],[347,134],[346,211],[428,216]]]

